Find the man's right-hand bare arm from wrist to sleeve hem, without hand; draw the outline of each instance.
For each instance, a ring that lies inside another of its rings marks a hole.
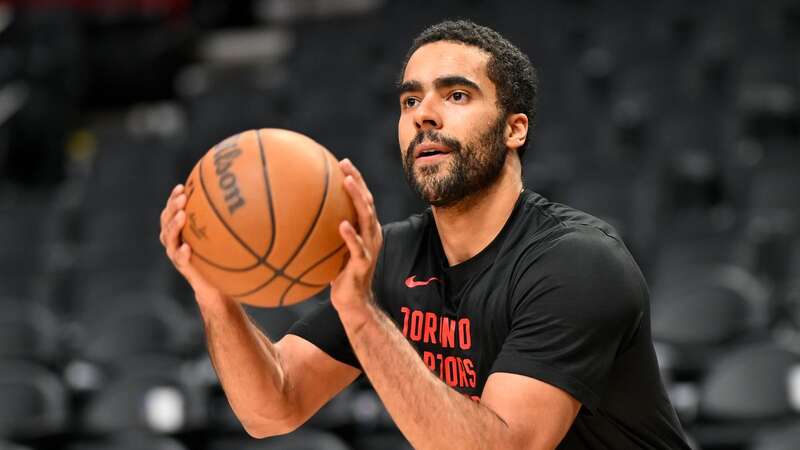
[[[474,402],[436,377],[372,303],[341,317],[367,377],[414,448],[553,449],[580,409],[561,389],[508,373],[492,374]]]

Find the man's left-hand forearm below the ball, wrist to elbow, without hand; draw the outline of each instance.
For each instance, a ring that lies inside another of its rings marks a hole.
[[[288,380],[275,346],[235,301],[198,299],[211,361],[236,416],[252,435],[293,428]]]

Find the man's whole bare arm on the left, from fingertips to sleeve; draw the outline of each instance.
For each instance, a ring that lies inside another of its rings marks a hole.
[[[244,309],[222,295],[191,265],[191,248],[180,243],[186,196],[177,186],[161,214],[161,242],[195,292],[208,351],[228,401],[249,434],[266,437],[294,430],[359,371],[308,341],[286,336],[273,344]],[[325,383],[318,380],[324,379]]]

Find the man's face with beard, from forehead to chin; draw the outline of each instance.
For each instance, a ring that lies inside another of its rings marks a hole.
[[[506,123],[488,60],[477,47],[439,41],[417,49],[406,65],[397,126],[403,170],[433,206],[452,206],[502,171]]]

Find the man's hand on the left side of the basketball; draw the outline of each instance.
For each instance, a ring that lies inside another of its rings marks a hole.
[[[167,257],[172,261],[172,265],[192,286],[198,303],[219,303],[226,297],[191,264],[192,248],[181,240],[181,230],[186,223],[186,212],[183,210],[185,207],[184,186],[179,184],[172,189],[172,193],[167,199],[167,205],[161,211],[159,239],[166,249]]]

